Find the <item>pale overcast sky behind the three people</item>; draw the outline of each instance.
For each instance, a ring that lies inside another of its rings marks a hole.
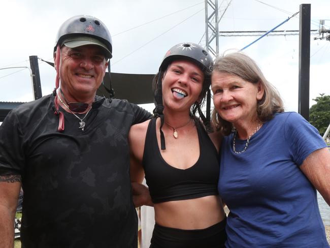
[[[221,10],[227,2],[219,1]],[[330,29],[329,0],[233,0],[219,30],[270,30],[298,12],[303,3],[311,4],[311,29],[318,29],[320,19],[327,19],[325,24]],[[173,45],[200,41],[205,45],[204,8],[200,0],[3,1],[0,68],[29,67],[30,55],[52,61],[60,24],[74,15],[88,14],[101,19],[112,34],[112,72],[154,74]],[[292,29],[299,29],[299,15],[277,30]],[[313,40],[314,37],[311,36],[310,99],[320,93],[330,95],[330,42]],[[220,53],[241,49],[255,39],[220,37]],[[285,109],[298,111],[299,36],[265,37],[245,53],[257,61],[266,78],[280,91]],[[54,88],[55,70],[41,61],[39,66],[42,93],[47,95]],[[29,71],[19,70],[0,70],[0,101],[33,100]],[[314,103],[311,100],[310,106]]]

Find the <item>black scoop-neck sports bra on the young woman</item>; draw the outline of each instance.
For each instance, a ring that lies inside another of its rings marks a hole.
[[[142,164],[153,203],[218,195],[218,153],[202,123],[196,121],[200,157],[188,169],[175,168],[161,157],[156,118],[148,125]]]

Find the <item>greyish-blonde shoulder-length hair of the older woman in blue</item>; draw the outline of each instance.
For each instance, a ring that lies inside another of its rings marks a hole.
[[[275,113],[284,111],[279,92],[266,80],[255,61],[246,54],[234,52],[218,57],[215,60],[213,72],[232,74],[253,84],[260,82],[263,85],[265,92],[262,99],[257,102],[256,109],[260,121],[270,120]],[[222,119],[215,109],[213,109],[211,121],[214,127],[220,130],[223,135],[232,132],[232,123]]]

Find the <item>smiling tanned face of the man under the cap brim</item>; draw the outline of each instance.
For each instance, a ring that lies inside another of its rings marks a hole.
[[[102,83],[107,65],[104,51],[98,46],[63,46],[60,53],[59,75],[60,88],[65,98],[69,102],[92,102],[96,89]]]

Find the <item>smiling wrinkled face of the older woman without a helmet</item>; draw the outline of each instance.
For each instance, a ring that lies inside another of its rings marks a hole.
[[[214,107],[220,117],[242,126],[257,118],[257,101],[262,99],[263,86],[242,78],[214,71],[211,77]]]

